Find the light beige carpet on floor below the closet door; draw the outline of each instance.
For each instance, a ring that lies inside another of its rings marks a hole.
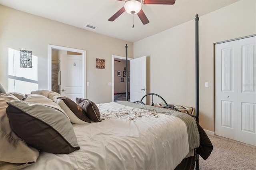
[[[208,135],[213,150],[207,160],[199,156],[200,170],[256,170],[256,146]]]

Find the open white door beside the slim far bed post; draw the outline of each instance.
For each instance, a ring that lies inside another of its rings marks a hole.
[[[140,100],[147,93],[146,56],[130,60],[130,102]],[[143,102],[146,104],[146,97]]]

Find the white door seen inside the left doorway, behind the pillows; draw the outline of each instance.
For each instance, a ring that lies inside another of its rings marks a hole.
[[[84,77],[82,55],[65,55],[60,57],[60,94],[76,101],[84,98]]]

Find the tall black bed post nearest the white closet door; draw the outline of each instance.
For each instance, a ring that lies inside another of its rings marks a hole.
[[[199,43],[198,43],[198,14],[196,14],[196,121],[199,123]],[[199,170],[199,155],[196,153],[196,170]]]

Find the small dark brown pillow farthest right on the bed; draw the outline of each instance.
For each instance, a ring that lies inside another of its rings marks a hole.
[[[76,103],[83,109],[88,118],[94,122],[101,122],[100,111],[92,101],[76,97]]]

